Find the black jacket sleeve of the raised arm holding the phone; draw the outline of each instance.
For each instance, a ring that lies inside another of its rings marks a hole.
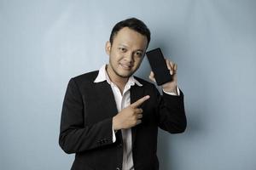
[[[183,133],[187,127],[183,104],[183,92],[180,95],[170,95],[163,93],[160,95],[156,89],[157,95],[157,119],[158,126],[169,133]]]

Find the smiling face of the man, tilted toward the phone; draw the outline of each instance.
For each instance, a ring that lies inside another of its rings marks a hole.
[[[113,37],[113,43],[106,43],[109,55],[108,76],[128,78],[137,71],[143,61],[148,45],[147,37],[124,27]]]

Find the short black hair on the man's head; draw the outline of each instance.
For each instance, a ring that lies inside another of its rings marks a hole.
[[[115,26],[113,26],[109,38],[109,42],[111,44],[113,43],[113,37],[115,37],[117,33],[124,27],[128,27],[133,31],[137,31],[138,33],[147,37],[148,43],[150,42],[150,31],[148,29],[148,26],[146,26],[142,20],[138,20],[137,18],[129,18],[126,20],[121,20]]]

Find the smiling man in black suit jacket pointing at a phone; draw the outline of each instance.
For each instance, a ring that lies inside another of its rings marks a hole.
[[[149,41],[143,21],[122,20],[106,43],[108,65],[69,81],[59,143],[76,154],[71,169],[157,170],[158,127],[170,133],[185,130],[177,65],[166,59],[172,82],[162,85],[162,96],[154,84],[132,76]],[[154,81],[152,71],[149,78]]]

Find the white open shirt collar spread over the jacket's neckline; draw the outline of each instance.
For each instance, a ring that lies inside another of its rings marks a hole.
[[[96,77],[94,82],[107,81],[108,84],[111,84],[110,78],[108,77],[108,73],[106,71],[106,66],[107,65],[102,65],[101,69],[99,70],[98,76]],[[129,77],[128,82],[126,82],[126,85],[133,86],[135,84],[137,84],[137,86],[143,86],[143,84],[138,82],[133,76]]]

